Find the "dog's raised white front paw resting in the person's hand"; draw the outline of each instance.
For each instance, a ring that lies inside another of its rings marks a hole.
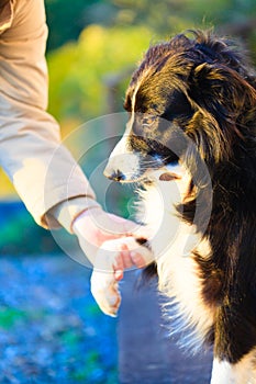
[[[104,314],[116,316],[121,303],[119,281],[122,280],[124,270],[146,267],[153,260],[151,250],[134,237],[102,244],[91,274],[91,293]]]

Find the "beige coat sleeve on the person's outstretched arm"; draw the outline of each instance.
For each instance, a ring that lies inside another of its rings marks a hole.
[[[14,0],[11,5],[11,23],[0,35],[0,165],[36,223],[56,226],[54,218],[45,221],[53,206],[76,196],[80,206],[81,196],[96,196],[46,112],[44,2]]]

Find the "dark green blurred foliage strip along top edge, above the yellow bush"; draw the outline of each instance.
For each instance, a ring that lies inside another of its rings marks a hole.
[[[48,49],[76,41],[90,24],[147,25],[163,36],[188,27],[222,29],[251,39],[255,35],[255,0],[46,0]]]

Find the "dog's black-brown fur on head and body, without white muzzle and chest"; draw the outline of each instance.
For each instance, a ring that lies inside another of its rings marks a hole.
[[[178,156],[168,149],[178,126],[193,140],[208,166],[213,206],[203,237],[210,240],[212,253],[207,259],[193,257],[203,279],[203,301],[216,308],[208,341],[214,342],[216,357],[236,363],[256,347],[254,71],[233,42],[197,31],[191,38],[178,35],[148,49],[129,87],[127,111],[138,79],[131,148],[140,151],[145,163],[147,155],[157,154],[162,163],[181,158],[196,174],[197,158],[186,140],[180,143]],[[151,117],[149,123],[145,115]],[[202,185],[203,174],[198,174],[191,185],[194,199],[180,207],[189,223],[193,221],[196,199],[204,193]],[[207,202],[208,196],[204,199]],[[196,223],[198,231],[203,219],[202,215]]]

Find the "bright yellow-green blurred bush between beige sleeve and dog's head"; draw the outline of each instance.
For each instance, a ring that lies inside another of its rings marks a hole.
[[[122,111],[129,77],[152,37],[153,32],[146,26],[90,25],[76,43],[48,54],[48,109],[60,120],[63,129],[71,122],[78,124],[107,112]],[[108,105],[111,81],[119,89],[114,111],[109,111]]]

